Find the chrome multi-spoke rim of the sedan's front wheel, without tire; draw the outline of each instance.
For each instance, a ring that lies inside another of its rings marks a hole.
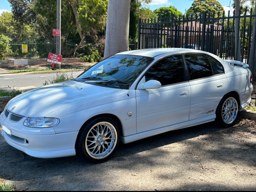
[[[118,134],[109,122],[99,122],[92,126],[85,138],[86,152],[93,159],[108,157],[116,147]]]

